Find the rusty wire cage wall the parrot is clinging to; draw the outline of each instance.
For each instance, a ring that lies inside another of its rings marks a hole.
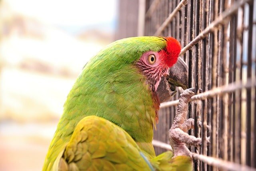
[[[199,153],[193,153],[194,170],[254,170],[256,0],[146,0],[144,28],[145,36],[180,41],[180,57],[189,66],[189,87],[203,89],[188,109],[188,117],[195,119],[189,134],[203,137],[201,147],[189,147]],[[154,139],[169,143],[178,97],[161,104]],[[168,149],[160,146],[155,143],[157,154]]]

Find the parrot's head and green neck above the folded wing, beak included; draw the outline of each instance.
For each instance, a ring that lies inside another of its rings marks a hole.
[[[64,104],[59,127],[68,122],[66,134],[71,135],[80,119],[97,115],[136,141],[151,142],[160,103],[170,100],[175,86],[185,89],[188,84],[180,50],[171,37],[132,37],[109,44],[84,66]]]

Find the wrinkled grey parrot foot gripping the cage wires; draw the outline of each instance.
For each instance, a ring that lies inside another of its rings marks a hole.
[[[179,155],[191,156],[187,145],[199,146],[202,144],[202,139],[194,137],[186,133],[189,129],[194,129],[194,119],[187,117],[188,102],[194,95],[194,88],[186,89],[180,94],[179,104],[177,108],[177,114],[174,118],[171,129],[169,130],[170,145],[172,146],[174,157]],[[199,91],[201,91],[199,89]],[[198,122],[198,126],[202,127],[202,122]],[[210,127],[207,127],[210,129]],[[208,137],[206,137],[207,143],[210,143]]]

